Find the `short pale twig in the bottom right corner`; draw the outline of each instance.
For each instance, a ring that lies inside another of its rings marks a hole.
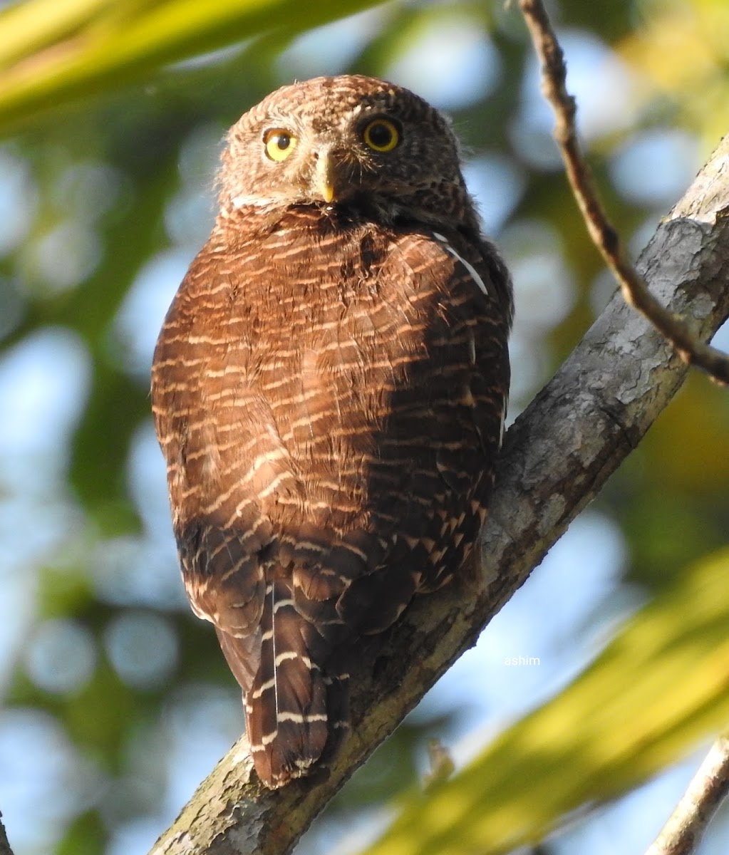
[[[729,793],[729,733],[711,746],[676,810],[645,855],[696,852],[708,823]]]

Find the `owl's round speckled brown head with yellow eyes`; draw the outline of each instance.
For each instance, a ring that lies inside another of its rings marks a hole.
[[[359,75],[282,86],[228,133],[223,215],[347,207],[384,221],[475,218],[447,119],[407,89]]]

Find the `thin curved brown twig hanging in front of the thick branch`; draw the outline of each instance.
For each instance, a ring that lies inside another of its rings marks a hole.
[[[625,302],[651,321],[685,363],[703,369],[722,385],[729,384],[729,356],[697,339],[679,315],[664,308],[625,257],[618,233],[608,220],[590,168],[580,151],[575,127],[577,106],[575,99],[566,91],[565,59],[547,10],[542,0],[519,0],[519,8],[542,63],[542,93],[554,109],[554,139],[560,147],[572,192],[590,238],[618,280]]]

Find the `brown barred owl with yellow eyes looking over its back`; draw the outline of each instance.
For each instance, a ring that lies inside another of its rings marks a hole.
[[[152,407],[187,595],[276,788],[335,757],[365,636],[472,558],[512,287],[448,121],[400,86],[283,86],[231,128],[219,188]]]

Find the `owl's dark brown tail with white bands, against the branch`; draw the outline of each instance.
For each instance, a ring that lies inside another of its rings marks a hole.
[[[282,787],[335,755],[347,732],[347,675],[324,669],[329,646],[293,607],[291,588],[266,588],[261,658],[246,692],[246,729],[258,776]]]

